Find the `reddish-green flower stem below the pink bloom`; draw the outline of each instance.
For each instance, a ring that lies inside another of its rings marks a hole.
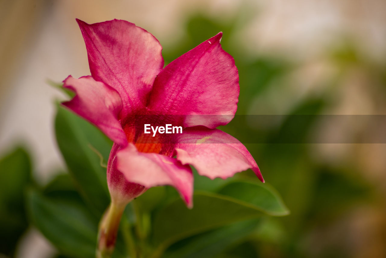
[[[99,224],[97,258],[110,258],[115,248],[119,222],[125,209],[125,204],[110,203]]]

